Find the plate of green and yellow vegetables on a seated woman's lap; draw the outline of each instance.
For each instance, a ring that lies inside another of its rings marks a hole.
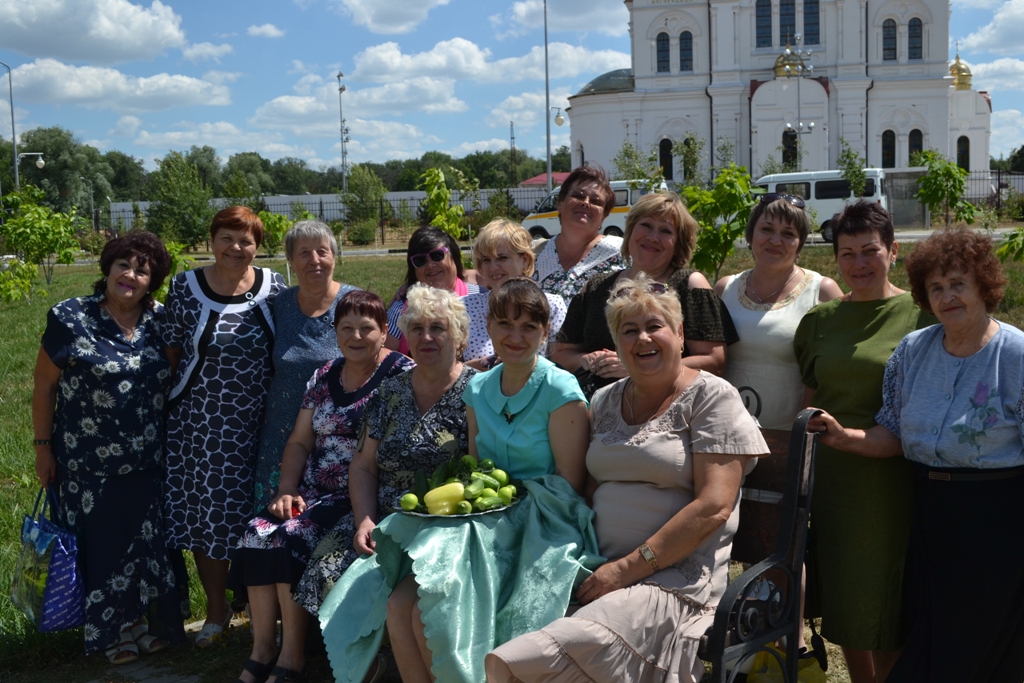
[[[526,495],[490,459],[462,456],[442,463],[429,476],[416,472],[413,490],[398,499],[401,512],[421,517],[482,515],[516,505]]]

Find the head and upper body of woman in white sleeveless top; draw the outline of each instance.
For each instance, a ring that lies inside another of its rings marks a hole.
[[[757,392],[757,418],[765,429],[788,430],[804,404],[793,351],[801,318],[843,295],[833,279],[797,265],[809,228],[803,199],[762,195],[746,222],[754,267],[715,285],[739,333],[739,341],[729,348],[724,377],[737,389]]]

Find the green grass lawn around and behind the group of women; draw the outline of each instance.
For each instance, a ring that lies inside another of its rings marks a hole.
[[[909,246],[909,245],[908,245]],[[908,251],[904,251],[905,255]],[[346,255],[336,270],[338,280],[379,293],[387,300],[404,276],[402,256],[373,257]],[[807,247],[801,265],[841,282],[830,247]],[[260,259],[259,265],[286,272],[285,262]],[[743,251],[726,261],[722,274],[753,265]],[[1024,265],[1006,266],[1010,279],[1007,296],[995,316],[1024,328]],[[31,446],[32,373],[39,340],[46,324],[46,311],[57,301],[90,292],[97,278],[95,266],[58,266],[53,284],[45,294],[31,301],[0,304],[0,680],[80,683],[92,680],[106,669],[101,656],[84,657],[81,631],[38,634],[22,616],[8,597],[11,574],[19,548],[18,530],[23,517],[31,512],[38,483],[34,474],[35,455]],[[902,259],[893,273],[897,287],[906,287]],[[841,283],[842,284],[842,283]],[[205,605],[195,571],[191,572],[194,618],[201,618]],[[204,680],[229,680],[241,670],[249,651],[247,632],[236,630],[222,648],[198,652],[191,647],[174,648],[160,660],[181,674],[202,673]],[[830,650],[829,681],[848,680],[838,648]],[[323,666],[318,665],[318,666]],[[130,679],[121,679],[130,680]]]

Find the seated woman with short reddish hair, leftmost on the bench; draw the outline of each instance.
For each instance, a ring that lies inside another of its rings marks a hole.
[[[231,562],[228,586],[248,591],[252,611],[253,650],[243,683],[260,683],[270,675],[293,680],[303,671],[309,613],[292,600],[291,591],[324,532],[350,516],[348,465],[367,401],[381,382],[413,367],[401,353],[384,348],[387,317],[376,294],[346,294],[334,324],[344,357],[309,380],[285,446],[278,490],[266,512],[249,522]]]

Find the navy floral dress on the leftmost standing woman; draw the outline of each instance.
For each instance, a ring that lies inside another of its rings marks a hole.
[[[143,310],[129,341],[101,300],[97,292],[53,306],[42,339],[60,369],[55,486],[60,517],[78,537],[87,654],[115,645],[142,615],[151,633],[180,642],[178,591],[187,590],[176,590],[161,505],[171,375],[160,337],[163,311],[159,304]]]

